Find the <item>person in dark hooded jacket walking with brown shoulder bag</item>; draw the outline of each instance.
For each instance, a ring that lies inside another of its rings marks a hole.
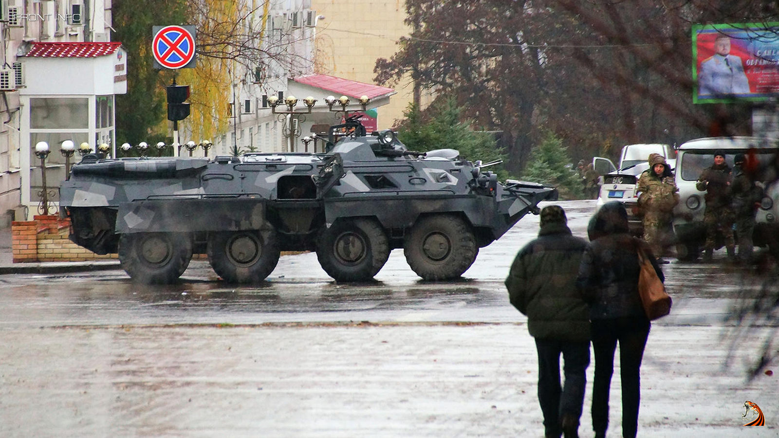
[[[595,355],[592,424],[596,437],[608,429],[608,394],[619,342],[622,380],[622,436],[638,431],[640,366],[650,322],[638,294],[637,249],[647,253],[657,276],[663,273],[646,242],[633,238],[622,203],[605,203],[588,226],[590,245],[582,256],[576,286],[590,302],[590,334]]]

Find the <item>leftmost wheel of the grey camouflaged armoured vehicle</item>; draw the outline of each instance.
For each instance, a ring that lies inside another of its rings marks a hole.
[[[192,260],[192,239],[185,233],[125,233],[119,238],[118,256],[133,281],[171,284]]]

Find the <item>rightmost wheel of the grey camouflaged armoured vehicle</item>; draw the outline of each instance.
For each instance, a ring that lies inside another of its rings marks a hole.
[[[471,267],[478,246],[466,221],[435,215],[414,224],[404,240],[403,253],[411,270],[425,280],[451,280]]]

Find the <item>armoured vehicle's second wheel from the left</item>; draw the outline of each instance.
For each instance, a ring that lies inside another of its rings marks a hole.
[[[211,268],[227,283],[259,283],[279,263],[276,231],[224,231],[208,236]]]

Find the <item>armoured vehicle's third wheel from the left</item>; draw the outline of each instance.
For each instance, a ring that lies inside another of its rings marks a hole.
[[[390,242],[372,219],[336,221],[317,240],[319,265],[339,282],[371,280],[389,257]]]

